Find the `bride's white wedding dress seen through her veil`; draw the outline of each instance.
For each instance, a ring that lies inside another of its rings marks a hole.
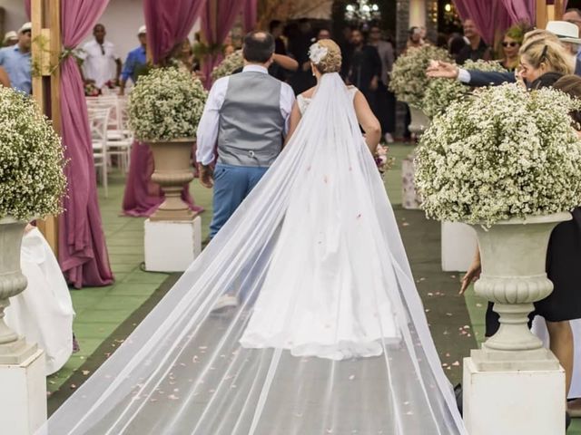
[[[349,88],[351,99],[356,92]],[[310,99],[299,96],[298,104],[304,116]],[[356,150],[350,154],[331,164],[321,150],[295,181],[243,346],[341,360],[377,356],[382,341],[399,341],[385,291],[398,284],[381,266],[378,216],[367,179],[353,170]]]

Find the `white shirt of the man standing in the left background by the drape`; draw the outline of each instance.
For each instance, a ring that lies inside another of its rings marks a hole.
[[[106,82],[117,79],[115,61],[119,56],[113,43],[104,41],[102,46],[95,39],[89,41],[83,45],[79,57],[84,60],[84,78],[94,80],[97,88],[101,89]]]

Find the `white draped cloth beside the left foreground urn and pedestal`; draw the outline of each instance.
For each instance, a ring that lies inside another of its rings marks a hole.
[[[28,285],[10,298],[5,321],[44,351],[44,370],[49,375],[58,372],[73,353],[73,302],[61,267],[36,227],[26,227],[20,252]]]

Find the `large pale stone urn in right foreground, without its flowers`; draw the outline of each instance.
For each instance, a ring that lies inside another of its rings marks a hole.
[[[496,354],[496,360],[534,360],[545,350],[536,335],[528,329],[528,314],[533,303],[553,291],[545,272],[547,245],[551,231],[560,222],[570,220],[569,213],[556,213],[523,219],[508,219],[489,229],[473,226],[477,232],[482,274],[476,282],[478,295],[494,303],[500,314],[498,332],[483,344],[483,353]]]

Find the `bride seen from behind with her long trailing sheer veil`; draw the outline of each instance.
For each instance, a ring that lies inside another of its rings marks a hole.
[[[335,43],[310,60],[281,156],[42,433],[466,434],[369,152],[377,120]]]

